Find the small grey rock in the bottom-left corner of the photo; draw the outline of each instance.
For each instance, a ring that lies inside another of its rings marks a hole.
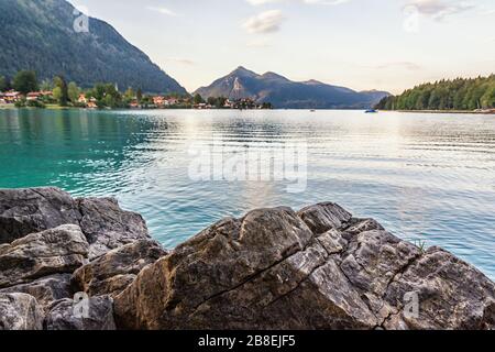
[[[43,311],[33,296],[0,294],[0,330],[42,330]]]

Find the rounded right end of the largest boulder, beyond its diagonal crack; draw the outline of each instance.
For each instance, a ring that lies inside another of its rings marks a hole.
[[[408,316],[403,297],[415,293],[417,316]],[[391,283],[384,297],[398,311],[384,322],[387,329],[495,329],[495,287],[481,272],[439,248],[409,263]]]

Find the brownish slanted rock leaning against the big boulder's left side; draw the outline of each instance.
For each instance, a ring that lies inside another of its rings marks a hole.
[[[166,254],[153,240],[121,246],[78,268],[73,275],[73,286],[90,296],[116,296],[134,280],[143,267]]]

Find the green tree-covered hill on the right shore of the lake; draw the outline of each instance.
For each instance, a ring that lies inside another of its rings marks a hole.
[[[495,108],[495,75],[425,84],[384,98],[382,110],[476,110]]]

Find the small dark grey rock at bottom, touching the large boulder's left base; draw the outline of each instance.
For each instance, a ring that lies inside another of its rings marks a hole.
[[[47,314],[46,330],[116,330],[113,301],[109,296],[91,297],[88,309],[77,308],[73,299],[54,302]]]

